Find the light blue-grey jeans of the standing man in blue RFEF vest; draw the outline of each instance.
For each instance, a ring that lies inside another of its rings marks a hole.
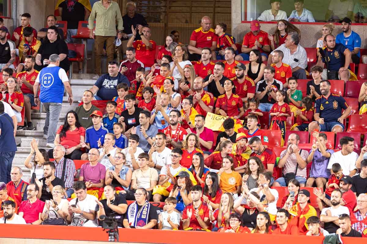
[[[44,102],[42,104],[46,110],[43,135],[47,135],[47,143],[54,143],[57,131],[57,122],[59,121],[62,104],[57,102]]]

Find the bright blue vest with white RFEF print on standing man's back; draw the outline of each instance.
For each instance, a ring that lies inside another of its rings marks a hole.
[[[57,102],[62,104],[64,84],[59,78],[58,66],[45,67],[40,73],[40,100],[41,102]]]

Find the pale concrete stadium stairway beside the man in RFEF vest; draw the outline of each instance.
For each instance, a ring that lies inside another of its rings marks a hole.
[[[74,77],[77,78],[77,74]],[[78,74],[79,75],[79,74]],[[68,103],[68,96],[63,97],[61,113],[59,117],[58,127],[64,124],[66,113],[69,110],[74,110],[78,104],[80,103],[81,98],[83,97],[83,92],[87,89],[90,89],[96,80],[92,79],[72,79],[71,87],[73,91],[74,102],[72,105]],[[43,139],[43,127],[44,121],[46,118],[46,111],[43,109],[42,111],[32,110],[31,112],[32,123],[33,126],[36,127],[35,131],[28,130],[19,130],[15,136],[15,141],[17,142],[18,151],[15,153],[15,157],[13,160],[12,166],[19,166],[23,170],[22,179],[26,182],[30,179],[30,170],[25,168],[24,161],[28,157],[30,153],[30,142],[32,138],[35,138],[38,141],[38,147],[40,149],[50,150],[50,148],[46,148],[46,139]],[[32,158],[33,160],[33,158]]]

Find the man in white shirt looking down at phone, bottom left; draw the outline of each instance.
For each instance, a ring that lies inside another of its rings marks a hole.
[[[85,219],[83,226],[97,227],[95,207],[98,199],[95,196],[87,194],[87,186],[84,181],[75,181],[73,188],[76,198],[69,202],[69,213],[66,220],[73,224],[73,217],[81,216]]]

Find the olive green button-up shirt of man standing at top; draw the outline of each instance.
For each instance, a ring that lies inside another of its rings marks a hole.
[[[123,30],[123,20],[120,12],[119,4],[111,1],[109,7],[103,7],[102,0],[93,4],[92,12],[89,16],[88,28],[93,30],[95,21],[95,35],[104,37],[116,36],[117,30]]]

